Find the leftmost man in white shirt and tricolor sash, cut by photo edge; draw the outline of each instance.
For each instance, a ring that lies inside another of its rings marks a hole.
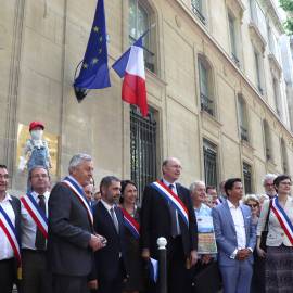
[[[17,281],[17,266],[20,258],[12,247],[9,235],[4,230],[10,225],[15,228],[15,244],[20,249],[21,243],[21,202],[15,196],[10,195],[8,190],[9,174],[5,165],[0,165],[0,291],[1,293],[11,293],[13,284]],[[20,251],[18,251],[20,252]]]

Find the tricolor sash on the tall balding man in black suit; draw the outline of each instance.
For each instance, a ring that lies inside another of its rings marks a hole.
[[[177,209],[186,225],[189,226],[188,209],[181,199],[162,181],[155,181],[151,183],[151,187],[153,187],[169,204]]]

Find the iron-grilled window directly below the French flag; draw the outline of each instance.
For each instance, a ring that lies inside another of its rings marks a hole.
[[[131,180],[138,186],[139,202],[144,187],[156,179],[156,119],[149,107],[143,118],[136,106],[130,107],[130,168]]]

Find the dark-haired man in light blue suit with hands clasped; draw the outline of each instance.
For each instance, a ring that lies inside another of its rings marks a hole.
[[[228,179],[225,191],[227,200],[212,211],[224,293],[250,293],[255,225],[251,208],[240,204],[243,195],[241,179]]]

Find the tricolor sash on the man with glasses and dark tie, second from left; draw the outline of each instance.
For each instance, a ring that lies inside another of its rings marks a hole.
[[[48,239],[48,218],[43,211],[39,207],[31,193],[27,193],[26,195],[22,196],[21,202],[23,203],[24,207],[26,208],[43,237]]]

